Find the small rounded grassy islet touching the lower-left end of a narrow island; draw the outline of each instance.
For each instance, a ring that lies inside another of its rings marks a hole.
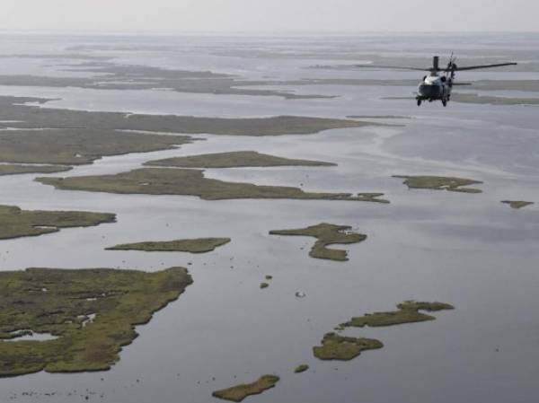
[[[365,350],[376,350],[384,345],[374,338],[343,337],[328,333],[323,337],[322,346],[314,346],[313,354],[324,361],[349,361]]]

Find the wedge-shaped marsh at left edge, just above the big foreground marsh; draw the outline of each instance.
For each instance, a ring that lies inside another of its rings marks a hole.
[[[88,227],[114,223],[116,215],[84,211],[21,210],[0,206],[0,240],[58,232],[61,228]]]

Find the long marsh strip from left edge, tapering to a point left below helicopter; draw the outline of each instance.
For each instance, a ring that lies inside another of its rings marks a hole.
[[[309,135],[323,130],[376,126],[376,123],[339,118],[276,116],[270,118],[200,118],[178,115],[143,115],[121,112],[61,110],[24,105],[48,99],[0,97],[0,127],[17,129],[66,128],[69,130],[138,130],[228,136]],[[2,123],[9,122],[9,123]],[[88,129],[92,127],[92,129]],[[16,133],[15,133],[16,134]],[[134,137],[131,137],[133,139]],[[155,139],[158,141],[158,138]],[[0,162],[3,160],[0,159]],[[9,161],[7,161],[9,162]]]

